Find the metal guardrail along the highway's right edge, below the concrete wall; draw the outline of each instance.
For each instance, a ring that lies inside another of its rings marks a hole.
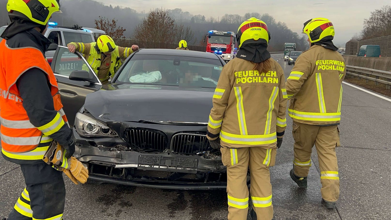
[[[350,72],[348,72],[350,71]],[[357,73],[354,73],[357,72]],[[368,83],[368,80],[375,81],[375,85],[378,85],[378,83],[382,83],[386,85],[387,89],[391,88],[391,72],[384,71],[384,70],[375,70],[375,69],[369,69],[365,67],[355,67],[355,66],[346,66],[346,74],[349,74],[351,76],[356,76],[359,78],[366,79],[366,82]],[[375,76],[375,77],[373,77]],[[384,79],[380,79],[384,78]]]

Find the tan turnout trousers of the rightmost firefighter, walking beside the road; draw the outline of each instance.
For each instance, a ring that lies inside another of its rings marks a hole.
[[[337,125],[317,126],[293,122],[293,171],[298,177],[307,177],[310,170],[312,147],[315,144],[321,170],[321,194],[328,202],[339,198],[339,176],[335,147],[340,146]]]

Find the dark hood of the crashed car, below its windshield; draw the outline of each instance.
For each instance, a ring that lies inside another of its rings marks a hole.
[[[214,90],[112,83],[88,94],[84,108],[102,121],[207,123]]]

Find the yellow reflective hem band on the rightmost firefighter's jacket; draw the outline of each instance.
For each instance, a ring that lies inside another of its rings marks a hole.
[[[319,112],[300,112],[288,108],[288,114],[294,119],[305,121],[340,121],[341,112],[319,113]]]

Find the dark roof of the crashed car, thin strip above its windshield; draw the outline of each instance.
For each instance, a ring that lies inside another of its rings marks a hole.
[[[137,54],[191,56],[191,57],[219,60],[219,57],[215,53],[206,53],[206,52],[194,51],[194,50],[144,49],[143,48],[138,50]]]

